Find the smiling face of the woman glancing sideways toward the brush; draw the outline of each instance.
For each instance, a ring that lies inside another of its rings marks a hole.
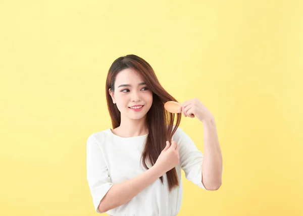
[[[115,91],[110,94],[122,116],[129,119],[143,118],[153,103],[153,93],[147,89],[142,77],[133,69],[127,68],[118,73]]]

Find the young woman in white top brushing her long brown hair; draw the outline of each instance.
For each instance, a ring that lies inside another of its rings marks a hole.
[[[221,186],[222,155],[213,115],[198,100],[180,106],[203,123],[204,151],[178,128],[176,101],[151,66],[128,55],[114,61],[106,80],[112,127],[87,140],[87,181],[96,212],[113,216],[175,216],[182,201],[181,169],[200,188]]]

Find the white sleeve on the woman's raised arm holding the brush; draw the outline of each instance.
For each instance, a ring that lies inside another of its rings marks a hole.
[[[202,183],[203,153],[196,148],[194,142],[181,128],[177,129],[173,140],[179,145],[180,166],[186,179],[206,189]]]

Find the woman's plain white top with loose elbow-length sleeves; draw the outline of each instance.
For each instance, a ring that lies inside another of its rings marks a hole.
[[[100,200],[117,183],[132,179],[145,170],[140,163],[147,135],[123,138],[111,129],[91,134],[87,139],[87,181],[96,212]],[[179,144],[179,165],[176,171],[180,186],[169,193],[166,175],[143,189],[129,202],[107,211],[113,216],[175,216],[181,208],[181,169],[186,179],[205,189],[201,182],[203,154],[180,128],[173,135]]]

